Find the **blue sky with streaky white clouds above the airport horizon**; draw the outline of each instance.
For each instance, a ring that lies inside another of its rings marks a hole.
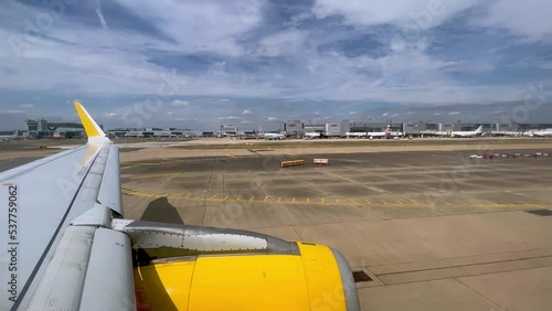
[[[2,2],[0,129],[552,122],[550,0]]]

